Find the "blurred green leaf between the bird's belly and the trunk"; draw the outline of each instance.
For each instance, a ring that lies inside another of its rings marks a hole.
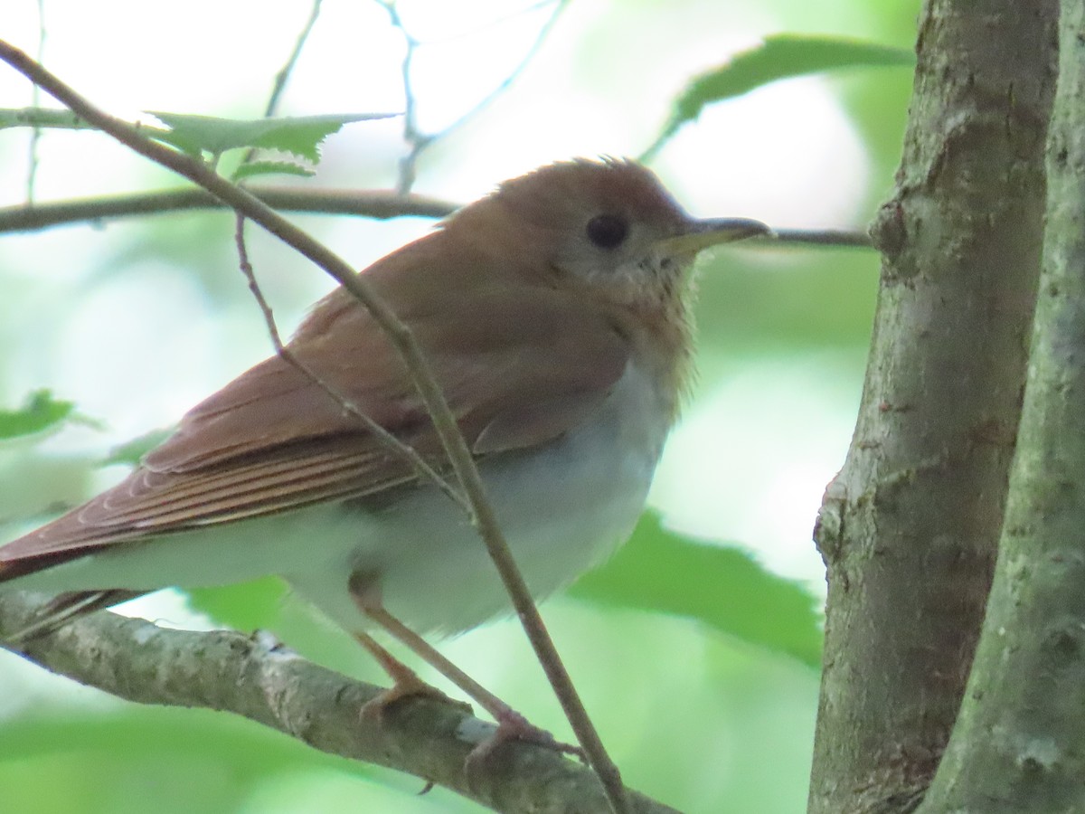
[[[812,667],[821,663],[817,601],[745,551],[694,543],[648,512],[625,546],[569,594],[602,605],[698,619]]]

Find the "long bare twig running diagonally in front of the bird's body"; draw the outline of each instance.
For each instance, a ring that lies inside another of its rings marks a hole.
[[[40,85],[43,90],[71,107],[79,116],[95,124],[101,130],[129,149],[184,176],[239,213],[259,224],[327,271],[369,309],[373,319],[385,331],[388,340],[400,354],[422,403],[430,412],[434,429],[448,455],[449,462],[471,504],[474,512],[474,524],[486,545],[490,559],[497,567],[501,582],[512,600],[527,638],[532,643],[536,658],[554,689],[554,695],[562,705],[570,726],[580,741],[580,746],[584,747],[592,768],[599,775],[614,810],[618,814],[626,814],[629,811],[628,798],[617,766],[608,755],[599,734],[591,724],[579,695],[569,677],[569,673],[561,663],[553,641],[546,631],[538,609],[527,589],[527,584],[509,551],[494,507],[486,498],[486,491],[471,450],[410,329],[395,316],[386,303],[373,294],[369,283],[355,274],[354,269],[339,255],[244,189],[216,175],[202,162],[145,138],[126,122],[99,110],[43,66],[4,40],[0,40],[0,60]]]

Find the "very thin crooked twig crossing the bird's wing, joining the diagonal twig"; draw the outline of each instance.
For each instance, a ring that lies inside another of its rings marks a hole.
[[[264,296],[264,291],[260,289],[260,284],[256,280],[256,272],[253,270],[253,264],[248,259],[248,249],[245,245],[245,216],[240,213],[237,216],[237,228],[233,232],[233,239],[238,247],[238,260],[239,266],[241,267],[241,272],[245,276],[245,280],[248,281],[248,290],[253,292],[253,296],[256,298],[256,304],[260,308],[260,314],[264,315],[264,322],[267,326],[268,334],[271,336],[271,344],[275,346],[275,352],[282,358],[283,361],[324,391],[324,393],[327,393],[341,409],[349,412],[352,416],[360,420],[361,423],[365,424],[366,429],[373,433],[376,440],[380,441],[385,448],[410,463],[411,468],[419,475],[419,478],[430,481],[437,488],[444,492],[445,495],[452,500],[452,503],[458,505],[470,516],[471,506],[468,504],[467,498],[464,498],[459,491],[454,488],[445,478],[437,474],[433,467],[426,463],[425,459],[418,454],[414,447],[405,444],[376,423],[376,421],[374,421],[369,414],[357,405],[357,403],[347,398],[346,395],[326,382],[315,370],[298,359],[297,356],[295,356],[294,353],[286,347],[285,344],[283,344],[282,336],[279,334],[279,327],[276,325],[275,314],[271,313],[271,306],[268,304],[267,297]]]

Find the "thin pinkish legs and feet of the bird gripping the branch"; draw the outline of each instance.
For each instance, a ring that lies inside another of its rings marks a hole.
[[[475,752],[477,752],[477,754],[472,753],[473,758],[484,758],[486,754],[492,752],[495,747],[506,740],[525,740],[551,747],[558,751],[569,754],[582,754],[579,748],[569,743],[562,743],[546,729],[540,729],[528,722],[527,718],[509,707],[509,704],[445,658],[441,651],[433,647],[433,645],[427,643],[410,629],[410,627],[388,613],[381,602],[380,592],[376,590],[372,582],[366,580],[363,575],[352,575],[349,589],[350,596],[354,598],[354,601],[357,603],[362,613],[387,631],[394,638],[406,645],[416,656],[422,659],[422,661],[463,690],[469,698],[486,710],[486,712],[488,712],[497,722],[497,733],[493,738],[476,747]],[[362,636],[365,636],[365,634],[362,634]],[[439,690],[436,690],[423,682],[418,674],[410,670],[410,667],[395,659],[395,657],[393,657],[387,650],[373,641],[371,637],[365,636],[365,639],[368,639],[368,641],[358,637],[361,645],[373,653],[376,660],[381,663],[381,666],[384,667],[385,672],[387,672],[395,682],[395,686],[388,690],[390,692],[396,694],[393,700],[412,695],[411,690],[414,688],[417,688],[414,689],[414,692],[422,695],[433,695],[434,692],[437,692],[444,697],[444,694],[441,694]],[[374,650],[374,647],[378,649]],[[380,652],[378,652],[378,650]]]

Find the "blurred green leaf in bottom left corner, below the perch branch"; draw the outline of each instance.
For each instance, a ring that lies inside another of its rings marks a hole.
[[[383,775],[208,710],[126,704],[107,715],[65,710],[0,725],[0,810],[12,814],[141,814],[149,799],[156,812],[237,811],[268,778],[321,770]]]

